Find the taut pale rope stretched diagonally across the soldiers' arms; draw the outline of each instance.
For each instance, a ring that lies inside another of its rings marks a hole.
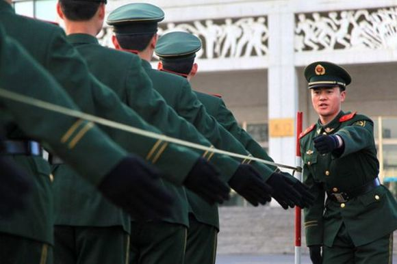
[[[288,165],[284,165],[284,164],[280,164],[280,163],[274,163],[271,161],[266,161],[264,159],[258,159],[256,157],[250,157],[250,156],[246,156],[246,155],[241,155],[238,153],[231,153],[229,151],[225,151],[225,150],[220,150],[218,148],[209,148],[207,146],[203,146],[200,144],[196,144],[196,143],[192,143],[192,142],[188,142],[185,140],[179,140],[175,137],[168,137],[166,135],[161,135],[161,134],[157,134],[154,132],[150,132],[150,131],[146,131],[144,129],[138,129],[136,127],[131,127],[127,124],[121,124],[118,122],[114,122],[112,120],[107,120],[105,118],[99,118],[98,116],[93,116],[91,114],[86,114],[83,113],[81,111],[77,111],[74,109],[69,109],[67,107],[62,107],[60,105],[54,105],[53,103],[48,103],[45,101],[41,101],[38,100],[36,98],[31,98],[22,94],[18,94],[16,92],[10,92],[8,90],[4,90],[2,88],[0,88],[0,97],[3,98],[8,98],[12,101],[16,101],[19,103],[25,103],[26,105],[31,105],[34,107],[38,107],[41,109],[47,109],[49,111],[54,111],[60,114],[64,114],[66,116],[73,116],[75,118],[81,118],[84,120],[88,120],[91,122],[95,122],[97,124],[102,124],[103,126],[106,127],[112,127],[114,129],[119,129],[119,130],[123,130],[123,131],[127,131],[129,133],[134,133],[134,134],[138,134],[138,135],[142,135],[144,137],[151,137],[154,138],[156,140],[164,140],[165,142],[170,142],[170,143],[175,143],[175,144],[179,144],[181,146],[186,146],[189,148],[196,148],[199,150],[204,150],[204,151],[209,151],[212,153],[218,153],[218,154],[222,154],[222,155],[228,155],[230,157],[236,157],[236,158],[240,158],[240,159],[250,159],[252,161],[257,161],[260,163],[264,163],[266,165],[270,165],[270,166],[277,166],[280,168],[286,168],[286,169],[290,169],[290,170],[299,170],[296,167],[293,166],[288,166]]]

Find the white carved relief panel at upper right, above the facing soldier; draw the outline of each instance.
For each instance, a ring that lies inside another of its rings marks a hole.
[[[295,50],[397,49],[397,8],[296,14]]]

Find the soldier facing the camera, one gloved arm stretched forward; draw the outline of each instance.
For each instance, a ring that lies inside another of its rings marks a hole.
[[[303,180],[316,195],[313,207],[305,209],[311,260],[391,264],[397,203],[379,182],[374,123],[342,111],[351,81],[344,68],[313,62],[305,78],[319,116],[300,135]]]

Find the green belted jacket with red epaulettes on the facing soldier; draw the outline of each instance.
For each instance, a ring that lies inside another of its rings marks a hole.
[[[324,204],[325,192],[349,192],[378,176],[373,129],[367,116],[345,115],[341,111],[329,124],[322,126],[318,121],[301,135],[303,181],[317,197],[315,204],[305,209],[307,246],[333,246],[342,223],[355,246],[370,243],[397,228],[397,203],[383,185],[344,204],[331,199]],[[313,138],[321,134],[340,135],[344,152],[339,156],[319,155]]]

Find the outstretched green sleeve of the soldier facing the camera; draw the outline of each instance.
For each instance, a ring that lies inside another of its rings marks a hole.
[[[344,151],[339,157],[344,157],[359,150],[373,148],[374,123],[365,116],[357,117],[350,125],[337,131],[335,135],[342,137]]]

